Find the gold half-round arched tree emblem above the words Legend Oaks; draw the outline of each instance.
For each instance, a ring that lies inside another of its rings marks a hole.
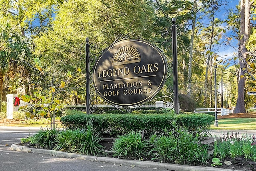
[[[112,65],[131,64],[140,62],[140,53],[136,48],[125,45],[119,48],[113,56]]]

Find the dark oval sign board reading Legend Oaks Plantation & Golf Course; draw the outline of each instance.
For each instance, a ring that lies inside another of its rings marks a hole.
[[[122,40],[109,46],[93,70],[97,93],[108,103],[138,105],[152,99],[167,74],[164,55],[144,40]]]

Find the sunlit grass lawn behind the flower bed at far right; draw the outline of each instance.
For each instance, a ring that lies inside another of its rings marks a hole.
[[[232,118],[232,119],[219,119],[218,127],[211,125],[210,129],[255,129],[256,130],[256,118]]]

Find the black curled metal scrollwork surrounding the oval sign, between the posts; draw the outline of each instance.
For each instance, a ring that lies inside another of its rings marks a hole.
[[[165,60],[167,63],[167,76],[166,76],[164,86],[162,87],[161,91],[158,92],[158,95],[156,95],[152,99],[150,99],[140,105],[122,107],[122,106],[116,106],[116,105],[110,104],[112,107],[115,107],[122,113],[132,112],[132,111],[138,109],[138,107],[141,107],[142,105],[156,103],[156,101],[162,101],[162,108],[164,108],[166,110],[174,109],[174,100],[172,98],[173,94],[174,94],[174,90],[173,90],[172,85],[170,85],[172,83],[171,76],[173,75],[173,65],[172,65],[173,62],[172,62],[172,58],[171,58],[172,29],[169,27],[164,28],[161,32],[161,36],[162,36],[163,40],[160,42],[159,41],[158,42],[150,41],[150,40],[147,40],[147,41],[153,42],[154,44],[158,44],[158,47],[161,47],[161,51],[164,54],[164,57],[165,57]],[[123,35],[119,36],[112,44],[114,44],[120,40],[125,40],[125,39],[129,39],[129,38],[130,38],[130,34],[123,34]],[[92,52],[97,49],[97,45],[94,43],[91,43],[89,47],[90,47],[90,50],[92,50]],[[102,50],[101,52],[95,53],[95,54],[90,52],[90,63],[95,63],[98,58],[98,55],[100,53],[102,53],[103,51],[104,50]],[[91,67],[91,68],[93,68],[93,67]],[[98,109],[98,106],[102,103],[107,104],[106,101],[102,101],[102,99],[99,97],[99,95],[97,95],[95,87],[92,84],[92,70],[90,70],[90,105],[89,105],[90,112],[94,113]]]

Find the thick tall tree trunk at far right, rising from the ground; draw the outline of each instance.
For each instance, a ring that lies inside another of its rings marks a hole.
[[[246,42],[250,37],[250,10],[252,7],[252,2],[250,0],[241,0],[240,1],[240,39],[239,39],[239,56],[241,60],[239,61],[240,68],[238,74],[238,95],[236,101],[236,108],[234,109],[234,113],[245,113],[244,106],[244,87],[245,87],[245,69],[247,69],[246,56]]]

